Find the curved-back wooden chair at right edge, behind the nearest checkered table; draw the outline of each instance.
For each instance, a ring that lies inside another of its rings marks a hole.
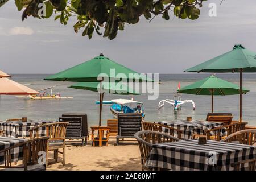
[[[228,135],[225,139],[221,140],[222,142],[234,142],[237,141],[240,144],[248,144],[256,146],[256,130],[241,130]]]

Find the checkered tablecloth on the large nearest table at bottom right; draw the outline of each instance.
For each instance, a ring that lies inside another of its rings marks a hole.
[[[176,171],[230,171],[233,170],[230,164],[256,157],[256,146],[213,140],[207,140],[205,145],[197,143],[198,140],[193,139],[154,144],[146,166]]]

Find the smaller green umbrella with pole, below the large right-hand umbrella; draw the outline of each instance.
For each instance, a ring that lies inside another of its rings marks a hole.
[[[213,113],[213,95],[226,96],[240,94],[240,87],[232,82],[222,80],[216,76],[209,76],[203,80],[194,82],[191,85],[185,86],[178,93],[187,93],[194,95],[211,95],[212,96],[212,113]],[[242,93],[247,93],[249,90],[242,89]]]

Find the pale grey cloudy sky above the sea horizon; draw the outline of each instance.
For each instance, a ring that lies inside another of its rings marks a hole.
[[[216,3],[217,16],[210,17],[209,3]],[[256,1],[209,0],[197,20],[181,20],[170,12],[151,22],[141,17],[126,24],[117,38],[93,35],[89,40],[67,26],[49,19],[28,17],[13,0],[0,8],[0,69],[6,73],[57,73],[104,53],[140,73],[184,73],[233,49],[234,44],[256,51]],[[103,30],[102,30],[103,31]]]

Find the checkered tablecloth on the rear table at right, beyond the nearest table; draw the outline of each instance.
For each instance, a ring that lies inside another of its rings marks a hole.
[[[174,127],[175,129],[179,129],[183,131],[181,134],[181,139],[187,140],[192,139],[193,133],[203,135],[204,131],[213,129],[214,127],[223,126],[221,122],[209,122],[209,121],[159,121],[155,122],[162,125],[167,125]],[[169,133],[169,129],[164,128],[164,132]],[[211,133],[210,133],[211,134]],[[225,129],[222,131],[222,136],[226,135]]]

